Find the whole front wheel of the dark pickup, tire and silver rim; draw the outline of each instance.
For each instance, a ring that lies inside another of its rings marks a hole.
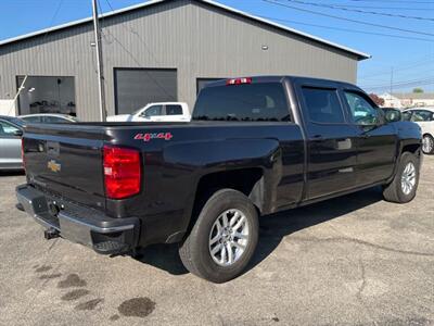
[[[396,175],[391,184],[384,186],[384,199],[391,202],[406,203],[416,197],[419,184],[419,160],[409,152],[400,156]]]

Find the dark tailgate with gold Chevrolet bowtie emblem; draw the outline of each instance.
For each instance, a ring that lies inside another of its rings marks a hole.
[[[23,137],[28,183],[66,200],[104,209],[104,137],[99,126],[28,126]]]

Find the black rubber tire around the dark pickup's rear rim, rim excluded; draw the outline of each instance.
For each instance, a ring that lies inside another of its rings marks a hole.
[[[239,210],[248,224],[248,240],[244,252],[230,266],[217,264],[209,252],[209,235],[216,220],[228,210]],[[258,240],[258,214],[251,200],[233,189],[216,191],[205,203],[186,240],[179,247],[179,255],[187,269],[213,283],[225,283],[243,273],[251,261]]]

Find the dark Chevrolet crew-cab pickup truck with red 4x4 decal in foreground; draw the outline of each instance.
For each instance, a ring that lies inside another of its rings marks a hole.
[[[422,159],[420,128],[358,87],[291,76],[209,84],[191,123],[30,125],[23,155],[17,199],[47,238],[105,254],[179,242],[215,283],[247,265],[259,215],[373,186],[408,202]]]

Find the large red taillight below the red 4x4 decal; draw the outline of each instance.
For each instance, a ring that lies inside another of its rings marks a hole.
[[[140,152],[122,147],[104,146],[103,152],[105,195],[123,199],[140,192]]]

